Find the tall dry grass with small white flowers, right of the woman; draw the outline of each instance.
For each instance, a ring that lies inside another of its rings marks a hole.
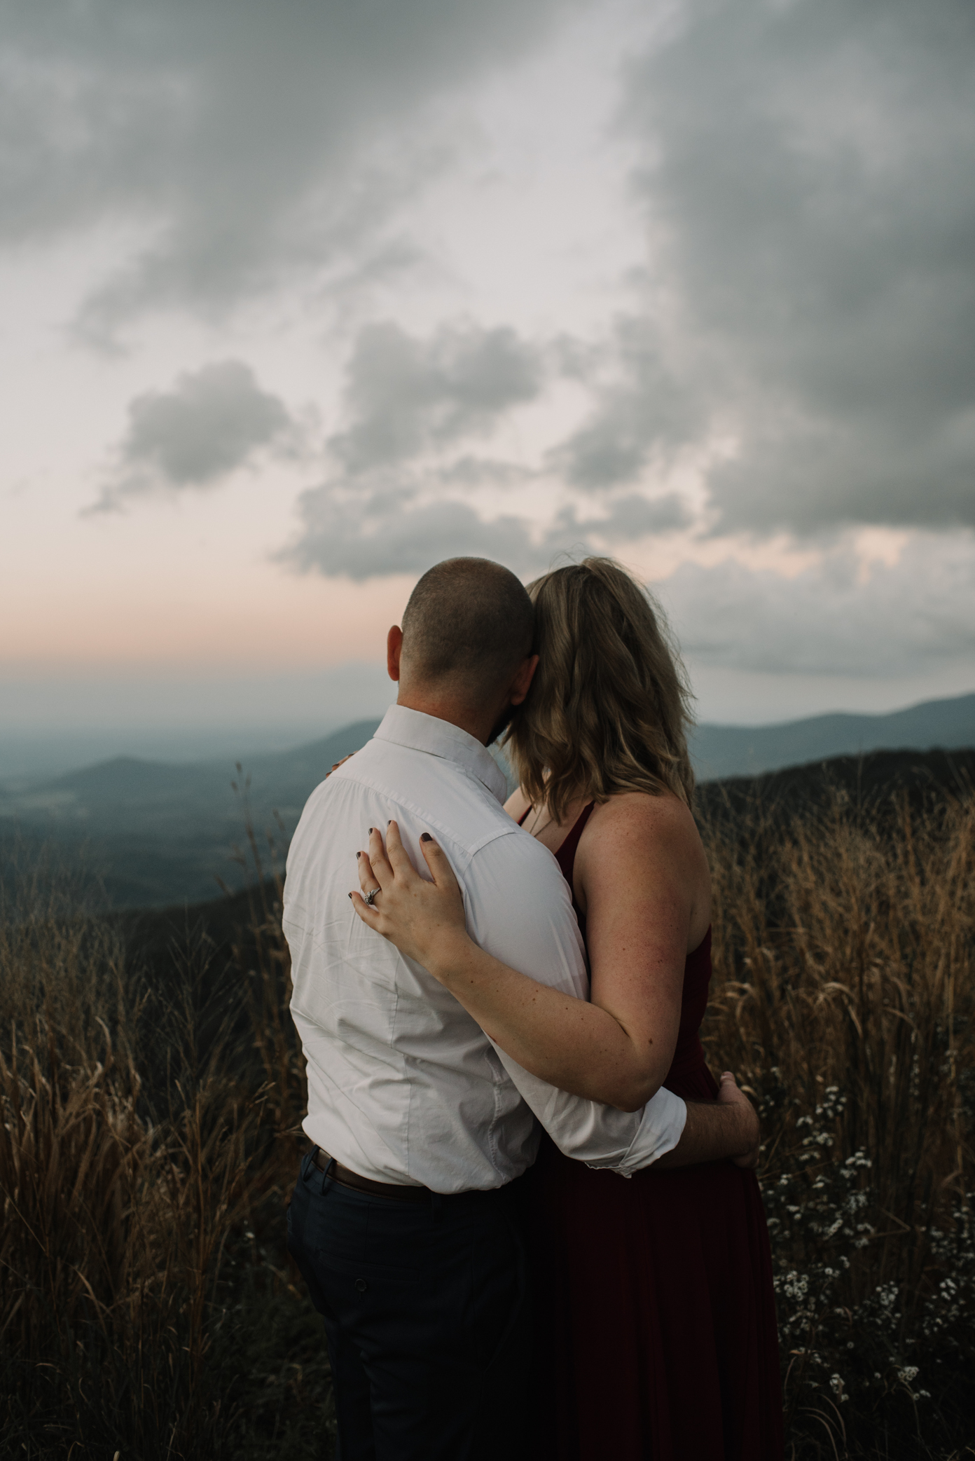
[[[714,818],[705,1043],[763,1118],[797,1455],[975,1439],[975,801]],[[968,1452],[968,1454],[974,1454]]]

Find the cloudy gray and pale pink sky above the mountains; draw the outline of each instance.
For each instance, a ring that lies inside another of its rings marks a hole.
[[[0,736],[372,712],[457,552],[616,554],[704,719],[975,688],[969,0],[0,28]]]

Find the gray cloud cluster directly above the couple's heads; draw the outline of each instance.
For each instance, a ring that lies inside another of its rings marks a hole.
[[[366,326],[346,373],[347,425],[327,444],[334,470],[301,495],[301,532],[282,560],[362,580],[422,573],[439,558],[479,552],[531,573],[559,551],[587,552],[687,526],[687,508],[674,494],[629,492],[596,516],[566,507],[542,530],[511,513],[485,519],[457,500],[458,491],[531,478],[527,469],[473,457],[467,447],[539,396],[558,355],[553,345],[471,321],[426,337],[393,323]],[[447,453],[436,469],[431,453]],[[429,501],[431,487],[452,495]]]

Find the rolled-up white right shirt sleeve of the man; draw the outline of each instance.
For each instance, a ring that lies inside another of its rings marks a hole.
[[[568,884],[546,847],[527,833],[498,837],[473,856],[463,881],[467,928],[482,948],[539,983],[588,999],[585,953]],[[631,1176],[680,1141],[687,1107],[673,1091],[661,1087],[642,1110],[617,1110],[558,1090],[495,1049],[566,1157]]]

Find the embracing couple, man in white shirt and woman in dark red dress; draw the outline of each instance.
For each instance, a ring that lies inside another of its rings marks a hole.
[[[288,1233],[337,1455],[778,1461],[758,1119],[698,1037],[711,884],[666,628],[606,558],[527,590],[454,558],[388,668],[285,884],[312,1143]]]

